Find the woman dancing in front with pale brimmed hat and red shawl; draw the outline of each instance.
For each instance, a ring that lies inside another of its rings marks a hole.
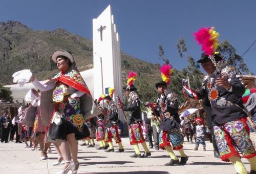
[[[56,107],[49,125],[48,137],[56,140],[65,160],[63,170],[58,173],[68,173],[69,170],[77,173],[79,163],[76,140],[90,135],[88,127],[84,124],[83,116],[89,119],[99,115],[100,111],[94,107],[95,103],[91,98],[90,91],[76,68],[71,52],[57,51],[53,53],[52,60],[60,72],[44,85],[33,75],[31,81],[42,92],[53,89],[52,100]],[[83,113],[80,110],[80,105],[82,105]],[[92,109],[93,114],[91,114]],[[73,161],[71,161],[70,153]]]

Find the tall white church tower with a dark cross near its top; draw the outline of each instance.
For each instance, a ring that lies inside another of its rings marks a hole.
[[[93,19],[93,71],[95,99],[110,87],[115,88],[113,100],[117,103],[117,95],[122,99],[120,40],[110,5]],[[121,112],[119,119],[123,121]]]

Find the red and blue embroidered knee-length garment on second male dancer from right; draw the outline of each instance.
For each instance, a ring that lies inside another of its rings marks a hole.
[[[173,145],[174,150],[183,148],[183,137],[180,132],[180,128],[173,128],[169,131],[163,131],[159,133],[159,147],[164,149],[164,146]]]

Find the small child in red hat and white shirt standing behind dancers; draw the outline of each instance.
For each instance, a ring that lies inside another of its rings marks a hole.
[[[197,123],[196,126],[196,147],[194,150],[198,150],[199,144],[201,143],[203,145],[203,150],[206,151],[205,149],[205,142],[204,142],[204,137],[205,137],[205,127],[203,125],[204,120],[200,117],[195,118],[195,122]]]

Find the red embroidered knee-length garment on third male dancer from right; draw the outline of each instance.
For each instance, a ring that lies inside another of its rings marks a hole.
[[[129,124],[129,139],[131,145],[145,142],[139,122]]]

